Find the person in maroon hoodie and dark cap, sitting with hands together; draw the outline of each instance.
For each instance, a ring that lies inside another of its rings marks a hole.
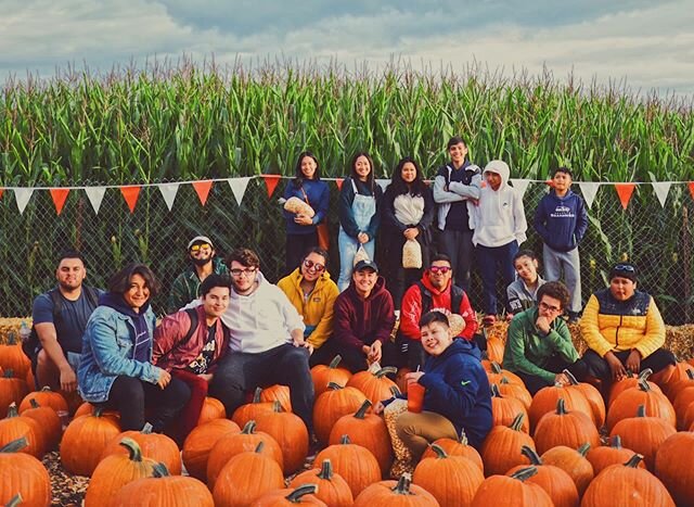
[[[327,342],[351,372],[363,371],[371,363],[391,362],[394,308],[376,263],[358,262],[349,287],[335,300],[333,338]]]

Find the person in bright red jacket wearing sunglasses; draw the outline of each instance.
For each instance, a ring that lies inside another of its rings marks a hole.
[[[407,355],[407,366],[412,370],[417,366],[424,366],[426,359],[422,347],[420,319],[428,312],[439,310],[447,316],[459,314],[463,317],[465,327],[459,338],[472,342],[477,332],[477,318],[467,294],[454,286],[452,279],[450,257],[446,254],[435,254],[422,279],[411,286],[402,296],[397,342],[401,353]]]

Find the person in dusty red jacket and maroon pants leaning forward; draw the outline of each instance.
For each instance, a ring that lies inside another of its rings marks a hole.
[[[202,305],[167,315],[154,330],[152,363],[191,390],[175,438],[182,443],[197,424],[215,367],[229,348],[229,329],[219,319],[229,306],[231,280],[210,275],[201,284]]]

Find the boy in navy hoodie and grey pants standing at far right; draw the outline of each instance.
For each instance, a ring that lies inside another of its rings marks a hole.
[[[569,321],[580,316],[581,265],[578,243],[588,229],[588,213],[580,195],[571,192],[571,172],[558,167],[552,175],[552,190],[544,195],[535,212],[535,229],[542,238],[544,277],[564,282],[571,295],[568,304]]]

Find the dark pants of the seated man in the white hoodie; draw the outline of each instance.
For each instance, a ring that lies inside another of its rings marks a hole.
[[[308,350],[288,343],[257,354],[228,354],[217,367],[209,394],[224,404],[231,417],[244,404],[247,391],[287,385],[292,409],[312,432],[313,381],[308,358]]]

